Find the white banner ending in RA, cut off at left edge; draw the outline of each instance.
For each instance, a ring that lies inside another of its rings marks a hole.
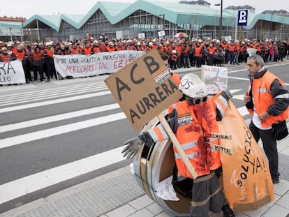
[[[0,63],[0,84],[23,84],[25,74],[22,62],[19,60]]]

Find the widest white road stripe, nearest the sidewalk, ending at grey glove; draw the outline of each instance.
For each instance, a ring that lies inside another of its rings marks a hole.
[[[123,148],[119,147],[105,151],[101,154],[82,158],[81,160],[2,184],[0,185],[0,204],[125,160],[121,154],[121,149]]]

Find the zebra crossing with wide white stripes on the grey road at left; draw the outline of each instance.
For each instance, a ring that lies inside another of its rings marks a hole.
[[[240,91],[242,89],[231,90],[232,93],[239,93]],[[75,133],[75,135],[73,134],[75,137],[72,136],[71,140],[68,141],[73,143],[73,140],[82,136],[81,131],[87,128],[103,128],[106,125],[114,124],[116,127],[111,129],[112,132],[124,130],[115,123],[126,121],[126,117],[119,109],[119,105],[115,103],[103,81],[69,84],[66,87],[54,87],[53,89],[33,89],[32,91],[25,89],[19,93],[1,95],[0,171],[6,165],[2,164],[2,167],[1,162],[4,162],[9,156],[13,156],[15,150],[20,148],[24,150],[31,144],[34,144],[35,147],[39,145],[39,153],[43,154],[47,145],[52,143],[50,142],[52,138],[57,136],[62,137],[69,133]],[[87,107],[83,102],[88,102],[87,104],[91,104],[91,107]],[[82,107],[82,104],[85,106]],[[55,112],[51,112],[50,107]],[[59,107],[62,110],[59,110]],[[40,115],[39,111],[43,111],[43,114]],[[47,115],[45,111],[50,112]],[[242,115],[246,115],[244,107],[240,107],[239,111]],[[38,115],[35,115],[34,112]],[[7,114],[9,117],[6,117]],[[19,114],[22,118],[17,116]],[[133,130],[128,131],[131,135],[135,135]],[[124,131],[120,134],[127,133]],[[93,137],[97,137],[100,141],[108,141],[113,136],[110,133],[98,135],[96,132],[96,135],[91,135],[85,140],[90,141]],[[124,135],[124,138],[127,137],[129,135]],[[121,155],[121,142],[114,139],[112,143],[115,144],[109,149],[104,149],[105,146],[99,146],[95,148],[99,148],[99,150],[91,156],[70,162],[68,160],[67,163],[38,170],[38,172],[25,169],[26,165],[20,167],[21,170],[29,171],[25,175],[14,176],[13,173],[17,172],[15,168],[6,173],[1,172],[1,176],[8,178],[3,179],[2,177],[1,179],[0,177],[0,210],[1,206],[5,207],[3,211],[8,210],[9,207],[13,208],[14,204],[21,202],[21,198],[25,195],[121,162],[124,160]],[[69,151],[67,152],[69,153]],[[65,155],[66,153],[63,154],[63,156]],[[26,156],[21,157],[26,158]],[[45,157],[43,156],[43,158]],[[29,156],[25,160],[29,162]],[[13,177],[17,178],[13,179]],[[18,199],[20,201],[17,201]],[[15,203],[10,204],[11,201]]]

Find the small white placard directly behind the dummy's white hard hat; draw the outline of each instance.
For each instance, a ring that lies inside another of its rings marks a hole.
[[[202,81],[207,86],[208,94],[216,94],[228,89],[228,68],[202,66]]]

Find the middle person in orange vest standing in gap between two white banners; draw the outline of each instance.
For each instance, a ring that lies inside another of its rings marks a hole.
[[[44,76],[43,76],[44,57],[38,45],[36,45],[36,47],[34,47],[34,50],[31,52],[31,60],[32,60],[32,70],[34,72],[34,83],[37,83],[38,73],[40,75],[41,83],[44,83]]]

